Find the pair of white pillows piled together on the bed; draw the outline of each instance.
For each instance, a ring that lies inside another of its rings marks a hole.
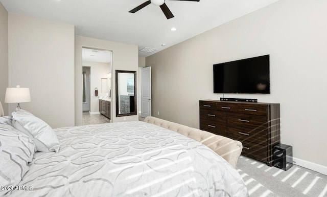
[[[30,112],[18,110],[12,117],[0,117],[0,183],[5,188],[0,196],[15,189],[36,151],[57,152],[59,147],[54,130]]]

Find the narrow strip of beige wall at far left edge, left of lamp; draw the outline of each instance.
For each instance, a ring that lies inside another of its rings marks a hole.
[[[5,115],[8,115],[8,104],[4,103],[8,87],[8,12],[0,2],[0,102]]]

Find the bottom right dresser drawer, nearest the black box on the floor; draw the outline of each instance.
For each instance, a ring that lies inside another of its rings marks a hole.
[[[242,144],[242,155],[249,156],[251,158],[255,158],[266,163],[268,162],[267,146],[255,144],[248,141],[242,141]]]

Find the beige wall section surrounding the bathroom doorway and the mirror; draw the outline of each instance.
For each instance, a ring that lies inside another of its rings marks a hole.
[[[75,125],[82,124],[82,47],[112,51],[111,72],[111,121],[123,121],[124,117],[116,117],[115,110],[115,70],[137,71],[138,47],[124,43],[101,40],[83,36],[75,36]],[[137,79],[138,80],[138,79]],[[137,115],[126,116],[126,121],[137,120]]]

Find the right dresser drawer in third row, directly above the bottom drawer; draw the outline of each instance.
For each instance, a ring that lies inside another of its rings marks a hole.
[[[239,141],[246,140],[255,144],[267,145],[267,135],[265,130],[228,127],[227,136]]]

